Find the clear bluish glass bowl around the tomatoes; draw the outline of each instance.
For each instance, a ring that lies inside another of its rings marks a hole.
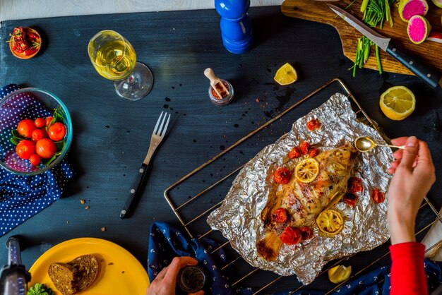
[[[37,119],[52,116],[54,110],[59,111],[64,117],[63,124],[66,126],[66,144],[61,154],[56,156],[53,162],[38,167],[30,164],[28,159],[20,159],[16,153],[16,145],[11,143],[13,129],[23,119]],[[56,164],[64,158],[72,143],[72,121],[68,109],[61,100],[51,92],[38,88],[23,88],[11,92],[0,100],[0,166],[19,175],[37,175]]]

